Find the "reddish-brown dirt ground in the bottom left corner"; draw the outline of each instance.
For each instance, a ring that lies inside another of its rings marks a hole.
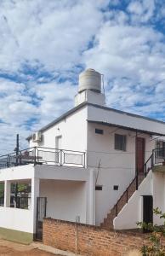
[[[53,256],[53,253],[47,253],[43,250],[31,247],[31,245],[22,245],[12,241],[0,240],[0,255],[9,256]],[[60,256],[59,254],[56,256]]]

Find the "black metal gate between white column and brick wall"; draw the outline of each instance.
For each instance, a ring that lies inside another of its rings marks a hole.
[[[43,218],[47,213],[47,198],[37,197],[37,224],[36,224],[36,239],[43,240]]]

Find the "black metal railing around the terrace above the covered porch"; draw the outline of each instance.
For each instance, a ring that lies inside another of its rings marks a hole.
[[[17,154],[14,152],[0,156],[0,169],[28,164],[85,167],[85,152],[32,147],[20,150]]]

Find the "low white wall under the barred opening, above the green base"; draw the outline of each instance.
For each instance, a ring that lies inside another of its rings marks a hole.
[[[33,233],[33,218],[30,210],[0,207],[0,227]]]

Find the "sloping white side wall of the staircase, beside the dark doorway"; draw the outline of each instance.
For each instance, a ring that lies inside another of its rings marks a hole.
[[[145,180],[139,185],[139,189],[128,200],[128,203],[122,208],[114,218],[113,224],[115,230],[137,229],[137,222],[143,221],[142,215],[142,195],[153,195],[152,171]]]

